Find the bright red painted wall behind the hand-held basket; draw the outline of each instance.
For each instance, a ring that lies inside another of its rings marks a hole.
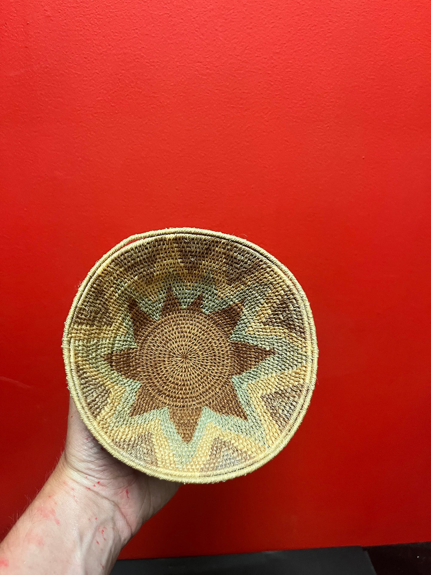
[[[61,333],[136,232],[247,237],[320,347],[305,420],[123,557],[431,539],[429,0],[3,0],[1,528],[66,431]]]

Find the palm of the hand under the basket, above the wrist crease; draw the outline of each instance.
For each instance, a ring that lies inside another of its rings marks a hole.
[[[150,477],[114,458],[87,430],[70,399],[66,472],[86,489],[112,501],[134,535],[174,495],[179,484]]]

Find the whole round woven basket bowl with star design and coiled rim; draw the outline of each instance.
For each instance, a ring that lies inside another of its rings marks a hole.
[[[278,260],[194,228],[129,237],[99,260],[66,321],[68,387],[114,457],[184,483],[276,455],[313,392],[310,306]]]

